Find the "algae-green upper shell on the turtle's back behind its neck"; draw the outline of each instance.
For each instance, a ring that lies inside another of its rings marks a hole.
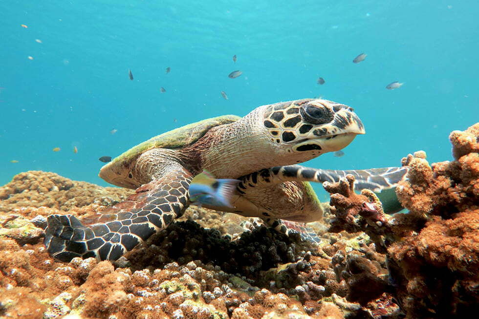
[[[131,160],[150,149],[182,149],[194,144],[203,137],[210,128],[233,123],[239,119],[240,117],[237,115],[222,115],[172,129],[171,131],[152,137],[132,147],[116,157],[111,163],[118,161],[130,163]]]

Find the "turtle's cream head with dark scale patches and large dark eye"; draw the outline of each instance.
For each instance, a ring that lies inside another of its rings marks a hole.
[[[270,141],[298,163],[343,149],[365,133],[351,107],[321,99],[268,106],[262,120]]]

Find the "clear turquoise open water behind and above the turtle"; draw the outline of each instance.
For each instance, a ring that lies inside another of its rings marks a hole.
[[[317,96],[354,107],[367,134],[308,166],[397,166],[420,149],[450,160],[449,133],[479,121],[479,2],[407,2],[1,1],[0,185],[26,170],[108,185],[101,156]]]

